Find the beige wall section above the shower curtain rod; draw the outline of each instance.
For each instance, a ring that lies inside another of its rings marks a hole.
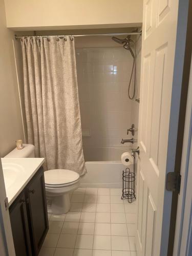
[[[5,0],[14,30],[138,27],[142,0]],[[54,27],[54,28],[53,28]]]

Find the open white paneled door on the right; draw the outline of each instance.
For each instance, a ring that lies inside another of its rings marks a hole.
[[[172,192],[165,190],[165,180],[166,173],[174,171],[168,169],[167,150],[178,2],[144,0],[143,5],[137,170],[138,256],[167,255]],[[175,131],[177,135],[177,127],[173,127],[172,132]]]

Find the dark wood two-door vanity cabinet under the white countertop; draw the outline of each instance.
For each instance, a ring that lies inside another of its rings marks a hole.
[[[12,203],[9,212],[16,256],[38,255],[49,229],[42,168]]]

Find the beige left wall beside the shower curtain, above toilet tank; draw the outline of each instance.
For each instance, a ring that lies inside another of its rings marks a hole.
[[[23,139],[22,118],[13,52],[13,33],[6,28],[4,1],[0,0],[0,153],[4,157]]]

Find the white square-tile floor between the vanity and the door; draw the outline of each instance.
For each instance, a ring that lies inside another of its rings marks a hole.
[[[49,215],[39,255],[136,256],[135,212],[119,188],[78,188],[67,214]]]

